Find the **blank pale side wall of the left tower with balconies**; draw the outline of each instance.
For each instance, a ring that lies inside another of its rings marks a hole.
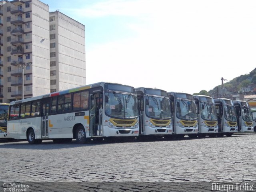
[[[32,1],[33,97],[50,93],[49,6]]]

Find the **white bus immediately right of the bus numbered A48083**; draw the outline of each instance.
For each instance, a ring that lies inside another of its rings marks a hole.
[[[171,136],[170,100],[164,90],[136,88],[139,106],[139,138]]]

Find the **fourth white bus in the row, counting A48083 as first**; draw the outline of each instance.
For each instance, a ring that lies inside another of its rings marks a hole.
[[[198,136],[217,136],[218,122],[215,103],[212,97],[194,95],[198,114]]]

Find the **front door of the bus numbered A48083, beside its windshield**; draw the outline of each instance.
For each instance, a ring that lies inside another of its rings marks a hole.
[[[102,136],[102,93],[90,94],[90,136]]]

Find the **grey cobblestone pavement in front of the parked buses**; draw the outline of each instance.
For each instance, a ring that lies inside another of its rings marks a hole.
[[[255,134],[90,144],[0,141],[0,182],[31,182],[31,191],[71,191],[76,182],[85,191],[209,191],[212,183],[256,183],[255,147]]]

